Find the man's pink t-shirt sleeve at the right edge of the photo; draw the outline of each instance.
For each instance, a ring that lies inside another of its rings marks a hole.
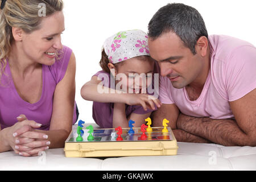
[[[243,46],[233,51],[226,64],[228,100],[235,101],[256,88],[256,48]]]

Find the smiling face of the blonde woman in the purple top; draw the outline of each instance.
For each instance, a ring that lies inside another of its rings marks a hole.
[[[29,34],[23,32],[22,48],[24,55],[36,63],[54,64],[56,51],[63,48],[61,33],[64,29],[62,11],[56,11],[56,13],[43,18],[39,30]]]

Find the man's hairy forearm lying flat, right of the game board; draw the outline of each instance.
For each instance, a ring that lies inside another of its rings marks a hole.
[[[250,145],[249,137],[233,119],[196,118],[180,114],[177,128],[224,146]]]

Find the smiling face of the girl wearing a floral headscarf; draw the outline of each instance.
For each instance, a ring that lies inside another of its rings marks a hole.
[[[152,83],[154,61],[133,57],[115,68],[116,89],[120,88],[127,93],[146,93]]]

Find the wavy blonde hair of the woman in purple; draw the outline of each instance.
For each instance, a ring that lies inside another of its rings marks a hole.
[[[42,3],[45,7],[43,16],[63,10],[62,0],[7,0],[0,10],[0,79],[14,41],[12,27],[22,28],[26,33],[38,30],[42,21],[39,15]]]

